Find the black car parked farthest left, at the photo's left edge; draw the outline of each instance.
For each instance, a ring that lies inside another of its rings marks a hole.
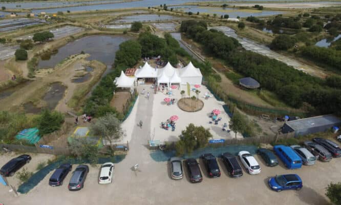
[[[0,174],[3,176],[13,176],[16,171],[26,165],[26,163],[29,163],[31,159],[31,156],[27,154],[11,159],[1,168]]]

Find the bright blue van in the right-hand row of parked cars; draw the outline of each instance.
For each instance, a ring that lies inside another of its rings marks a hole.
[[[301,157],[291,147],[276,145],[273,147],[273,150],[288,169],[300,169],[302,167]]]

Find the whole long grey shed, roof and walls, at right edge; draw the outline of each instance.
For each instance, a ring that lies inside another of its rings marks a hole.
[[[340,126],[341,119],[334,115],[321,115],[285,122],[282,133],[295,132],[294,136],[325,132],[333,126]]]

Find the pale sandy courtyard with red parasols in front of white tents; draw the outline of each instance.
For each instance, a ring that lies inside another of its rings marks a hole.
[[[194,87],[191,87],[191,89]],[[214,139],[230,139],[235,137],[235,133],[230,131],[227,133],[226,131],[222,131],[223,124],[230,120],[230,117],[223,109],[224,102],[218,101],[212,93],[205,86],[201,86],[198,88],[200,90],[199,98],[204,102],[204,107],[202,110],[198,112],[185,112],[182,111],[177,105],[168,106],[164,102],[164,98],[175,98],[176,102],[181,99],[181,90],[187,90],[187,86],[180,86],[180,89],[172,89],[173,95],[166,95],[165,92],[157,92],[154,96],[153,102],[153,116],[151,122],[151,139],[160,140],[160,142],[164,141],[177,141],[179,140],[179,135],[182,130],[185,130],[188,124],[193,123],[195,126],[203,126],[204,128],[209,128],[211,134]],[[187,91],[186,91],[187,92]],[[205,93],[208,93],[211,97],[208,99],[204,99]],[[154,95],[154,93],[153,93]],[[190,96],[196,95],[195,92],[190,91]],[[186,97],[188,95],[186,94]],[[218,117],[221,117],[221,121],[218,125],[209,124],[211,118],[209,118],[209,114],[212,110],[218,109],[221,111],[221,114]],[[172,129],[165,130],[161,128],[161,122],[166,121],[172,115],[178,115],[179,119],[176,121],[176,129],[172,131]],[[229,130],[229,127],[226,128]],[[242,138],[240,133],[237,134],[238,138]]]

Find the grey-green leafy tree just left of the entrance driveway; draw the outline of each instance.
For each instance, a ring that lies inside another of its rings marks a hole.
[[[116,118],[115,114],[108,113],[90,126],[90,131],[95,136],[102,136],[108,140],[110,147],[113,149],[114,141],[124,136],[121,128],[121,122]]]

